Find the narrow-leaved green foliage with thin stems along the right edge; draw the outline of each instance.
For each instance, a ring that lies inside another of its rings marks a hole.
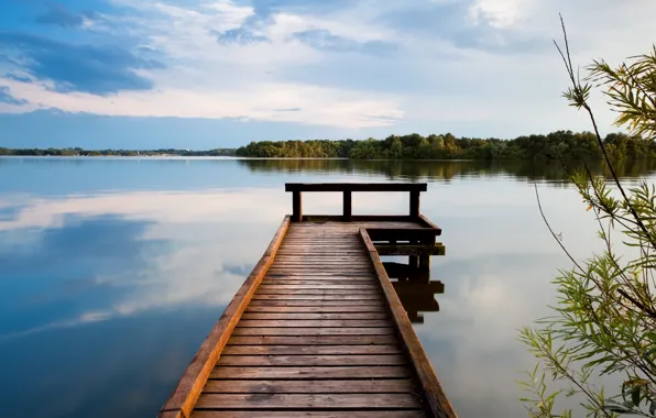
[[[588,103],[592,87],[575,76],[567,34],[565,43],[566,52],[558,48],[571,81],[565,97],[590,117],[614,188],[588,168],[571,175],[588,210],[593,210],[604,251],[578,262],[559,243],[573,267],[560,271],[554,282],[558,296],[557,305],[551,307],[554,315],[539,320],[536,328],[521,331],[520,340],[539,362],[528,374],[528,382],[523,383],[533,396],[523,400],[528,404],[532,417],[570,417],[569,410],[555,415],[556,399],[564,391],[548,391],[545,375],[549,375],[553,381],[568,386],[565,394],[579,399],[589,417],[654,417],[656,188],[646,182],[627,188],[619,180],[612,156],[628,153],[627,143],[620,136],[609,135],[602,140]],[[617,125],[653,139],[656,133],[653,101],[656,98],[656,50],[654,55],[636,59],[617,69],[595,62],[590,67],[590,78],[606,89],[609,105],[620,113]],[[648,143],[641,142],[638,146],[648,146]],[[601,376],[621,378],[622,383],[611,396],[595,384]]]

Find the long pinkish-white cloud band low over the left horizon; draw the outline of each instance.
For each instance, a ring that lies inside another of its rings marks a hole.
[[[57,92],[45,82],[2,79],[17,99],[29,106],[3,105],[13,112],[56,108],[67,112],[88,112],[128,117],[250,118],[269,121],[339,125],[348,128],[385,127],[403,111],[391,97],[330,89],[300,84],[262,82],[240,89],[208,88],[205,91],[164,88],[121,91],[102,97],[86,92]],[[298,108],[298,111],[280,109]],[[380,117],[389,118],[381,119]]]

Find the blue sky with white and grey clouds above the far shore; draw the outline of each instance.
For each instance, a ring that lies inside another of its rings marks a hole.
[[[559,13],[581,66],[656,41],[654,0],[2,0],[0,146],[589,130]]]

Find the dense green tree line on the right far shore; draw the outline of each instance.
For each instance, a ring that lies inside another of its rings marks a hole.
[[[615,160],[656,156],[656,144],[637,135],[610,133],[606,151]],[[600,146],[591,132],[557,131],[514,140],[456,138],[450,133],[390,135],[364,141],[261,141],[237,150],[244,157],[351,160],[598,160]]]

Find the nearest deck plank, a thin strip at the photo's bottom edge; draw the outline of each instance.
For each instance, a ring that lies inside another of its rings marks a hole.
[[[426,418],[420,409],[407,410],[376,410],[375,418]],[[198,410],[192,418],[372,418],[367,410]]]

